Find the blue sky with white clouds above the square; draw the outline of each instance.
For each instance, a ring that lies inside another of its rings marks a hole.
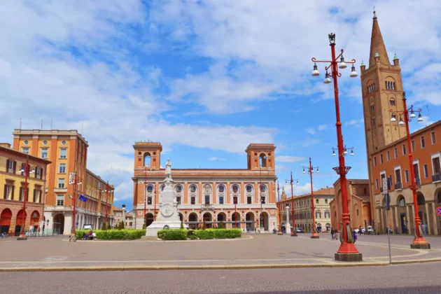
[[[12,141],[20,118],[23,128],[83,130],[88,168],[129,208],[132,144],[148,139],[174,168],[245,168],[249,143],[274,143],[281,185],[292,171],[295,194],[306,193],[311,156],[314,188],[331,186],[333,91],[323,66],[311,77],[311,57],[330,58],[334,32],[359,72],[373,6],[409,102],[426,123],[439,120],[440,1],[2,1],[0,141]],[[349,71],[339,79],[344,141],[356,153],[346,165],[366,179],[360,78]]]

